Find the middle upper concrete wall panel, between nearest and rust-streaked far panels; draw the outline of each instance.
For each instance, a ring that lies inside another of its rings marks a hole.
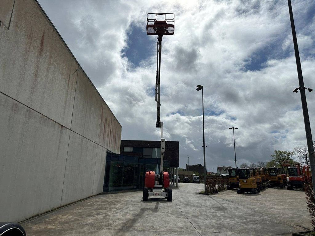
[[[95,87],[79,69],[71,130],[97,143],[102,102]]]

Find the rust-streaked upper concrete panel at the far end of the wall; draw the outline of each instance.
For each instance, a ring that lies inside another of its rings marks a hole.
[[[114,153],[120,152],[121,125],[107,104],[102,105],[98,144]]]

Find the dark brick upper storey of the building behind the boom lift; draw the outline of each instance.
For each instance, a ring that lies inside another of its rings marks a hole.
[[[161,141],[121,140],[120,154],[160,158]],[[170,167],[179,167],[179,142],[165,141],[164,160],[169,161]]]

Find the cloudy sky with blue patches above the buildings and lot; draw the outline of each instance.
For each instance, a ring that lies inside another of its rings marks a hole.
[[[38,0],[122,125],[122,139],[159,140],[156,36],[146,14],[175,14],[163,37],[161,121],[179,141],[180,167],[268,161],[306,145],[287,1]],[[304,84],[315,89],[315,1],[292,0]],[[313,136],[315,92],[306,92]],[[313,138],[314,139],[314,138]],[[212,169],[214,168],[214,169]]]

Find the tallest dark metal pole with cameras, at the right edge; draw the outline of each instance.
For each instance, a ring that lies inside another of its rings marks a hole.
[[[303,117],[304,117],[307,149],[308,149],[308,155],[309,155],[309,158],[310,158],[313,191],[315,193],[314,146],[313,146],[313,139],[312,139],[310,119],[309,119],[308,110],[307,110],[307,103],[306,103],[306,96],[305,96],[305,87],[304,87],[304,81],[303,81],[303,75],[302,75],[302,68],[301,68],[299,48],[298,48],[297,39],[296,39],[296,32],[295,32],[295,25],[294,25],[294,19],[293,19],[291,0],[288,0],[288,6],[289,6],[290,21],[291,21],[293,45],[294,45],[294,51],[295,51],[296,68],[297,68],[297,74],[298,74],[299,85],[300,85],[300,93],[301,93],[301,101],[302,101],[302,110],[303,110]]]

